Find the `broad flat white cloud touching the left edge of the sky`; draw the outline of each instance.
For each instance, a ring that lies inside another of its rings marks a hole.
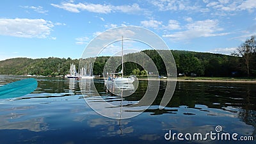
[[[47,38],[54,27],[44,19],[0,19],[0,35],[24,38]]]

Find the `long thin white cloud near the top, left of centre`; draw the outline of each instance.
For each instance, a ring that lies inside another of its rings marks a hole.
[[[139,4],[132,5],[120,5],[113,6],[110,4],[92,4],[92,3],[77,3],[74,4],[71,2],[63,2],[61,4],[51,4],[56,8],[62,8],[63,10],[67,10],[69,12],[79,13],[83,10],[93,13],[111,13],[111,12],[124,12],[124,13],[138,13],[142,12]]]

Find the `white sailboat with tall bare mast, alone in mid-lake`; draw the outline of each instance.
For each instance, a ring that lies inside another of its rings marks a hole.
[[[122,77],[111,77],[110,79],[108,79],[108,82],[115,82],[115,83],[119,83],[119,84],[122,84],[122,83],[133,83],[134,80],[135,80],[135,77],[133,76],[129,76],[129,77],[124,77],[124,40],[123,40],[123,36],[122,36],[122,70],[121,70],[121,73],[122,73]]]

